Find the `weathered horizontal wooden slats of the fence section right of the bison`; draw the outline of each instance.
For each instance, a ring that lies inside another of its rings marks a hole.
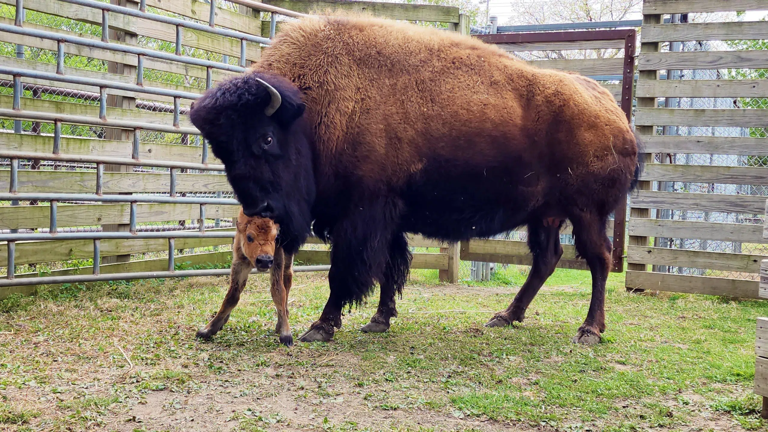
[[[768,249],[761,245],[768,243],[768,240],[760,236],[762,226],[747,222],[761,218],[766,204],[765,197],[750,193],[691,193],[685,189],[656,189],[665,182],[683,185],[745,185],[749,188],[764,186],[768,184],[768,168],[765,167],[670,163],[673,159],[668,155],[677,153],[676,161],[684,160],[682,156],[685,154],[733,155],[742,159],[765,156],[768,154],[768,140],[759,136],[660,136],[657,132],[660,130],[658,127],[743,127],[746,130],[750,130],[750,127],[766,127],[768,111],[737,106],[738,101],[744,98],[768,97],[768,80],[754,79],[746,74],[747,78],[744,79],[672,81],[660,80],[658,71],[667,71],[667,77],[671,78],[671,71],[674,70],[768,67],[768,51],[763,50],[660,52],[660,42],[665,41],[749,40],[768,36],[768,23],[765,21],[662,24],[662,14],[748,11],[766,7],[768,2],[765,0],[644,1],[643,44],[637,61],[640,79],[637,82],[634,121],[637,130],[643,135],[647,153],[643,156],[646,164],[641,173],[640,186],[631,196],[627,289],[760,297],[760,262],[768,259]],[[734,108],[659,107],[657,97],[728,97],[733,98]],[[660,154],[660,158],[654,160],[654,154]],[[713,190],[711,188],[710,192]],[[705,215],[711,212],[735,213],[737,216],[734,216],[736,223],[683,220],[687,217],[682,216],[675,216],[674,219],[664,216],[667,219],[660,219],[663,209],[698,211]],[[672,241],[660,247],[661,239]],[[742,247],[715,251],[702,246],[702,250],[686,250],[674,246],[675,239],[694,239],[702,244],[737,242]],[[649,265],[652,267],[649,268]],[[729,272],[726,273],[727,277],[716,277],[723,272]]]

